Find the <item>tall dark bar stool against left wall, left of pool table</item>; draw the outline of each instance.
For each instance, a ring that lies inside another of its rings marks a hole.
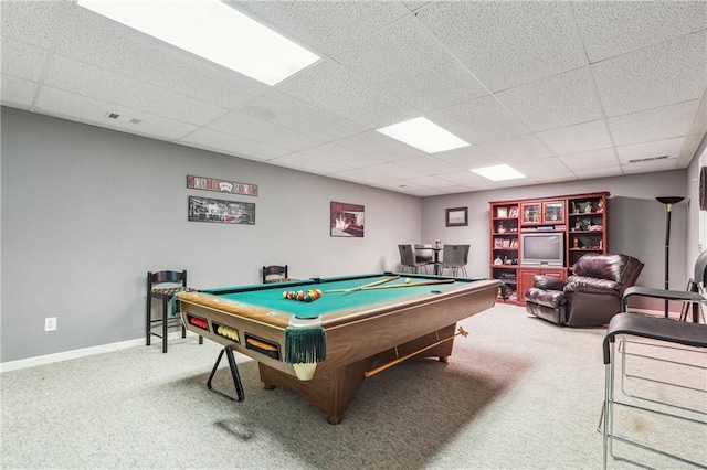
[[[162,352],[167,352],[168,331],[170,328],[181,327],[181,338],[187,338],[187,329],[181,322],[181,317],[170,318],[169,307],[175,301],[173,296],[180,291],[196,290],[187,287],[187,270],[183,271],[148,271],[147,273],[147,309],[145,337],[146,343],[151,344],[152,335],[162,339]],[[152,318],[152,300],[162,302],[161,316]],[[175,306],[172,306],[175,307]],[[156,325],[161,327],[159,332],[152,331]],[[203,344],[203,337],[199,337],[199,344]]]

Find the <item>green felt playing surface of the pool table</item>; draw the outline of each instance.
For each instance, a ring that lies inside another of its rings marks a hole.
[[[335,289],[351,289],[360,287],[377,280],[384,279],[388,276],[371,275],[357,278],[328,278],[321,279],[320,284],[312,280],[305,280],[292,284],[278,285],[258,285],[244,286],[242,288],[222,288],[207,290],[209,293],[219,295],[223,298],[249,303],[252,306],[263,307],[277,310],[284,313],[291,313],[300,318],[316,318],[325,316],[338,310],[345,310],[377,302],[384,302],[404,297],[418,296],[420,293],[430,293],[433,290],[444,291],[454,287],[458,287],[460,282],[473,282],[472,279],[455,279],[453,284],[440,284],[432,286],[414,286],[392,289],[360,290],[351,293],[344,292],[326,292]],[[410,278],[410,282],[424,282],[429,280],[439,280],[441,278],[434,276],[404,276],[400,279],[383,284],[382,286],[393,286],[404,284],[405,277]],[[324,293],[317,300],[312,302],[302,302],[297,300],[288,300],[283,298],[283,292],[288,290],[307,290],[320,289]]]

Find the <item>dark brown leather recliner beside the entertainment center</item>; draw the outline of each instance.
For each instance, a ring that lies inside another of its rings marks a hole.
[[[642,269],[643,263],[629,255],[587,254],[567,279],[534,276],[526,311],[564,327],[601,327],[621,312],[623,292]]]

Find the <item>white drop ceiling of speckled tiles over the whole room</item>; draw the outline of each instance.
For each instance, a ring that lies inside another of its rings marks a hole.
[[[228,3],[323,58],[271,87],[72,1],[2,0],[1,103],[419,196],[682,169],[707,131],[704,1]],[[471,146],[376,131],[420,116]],[[469,172],[503,163],[528,178]]]

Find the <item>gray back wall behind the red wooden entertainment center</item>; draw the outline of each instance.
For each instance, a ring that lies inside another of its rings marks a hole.
[[[632,174],[600,180],[425,197],[422,202],[422,238],[443,243],[469,243],[469,276],[488,276],[490,269],[488,202],[608,191],[611,253],[625,253],[645,264],[639,285],[663,288],[665,256],[665,205],[658,195],[687,195],[686,171]],[[445,227],[446,207],[469,207],[468,227]],[[671,222],[671,288],[687,282],[687,204],[673,207]],[[690,261],[692,265],[692,261]]]

